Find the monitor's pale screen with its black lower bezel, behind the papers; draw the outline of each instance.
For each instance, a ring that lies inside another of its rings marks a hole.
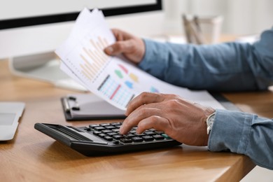
[[[139,13],[162,8],[161,0],[9,0],[0,6],[0,29],[76,20],[80,10],[85,7],[100,8],[105,16]]]

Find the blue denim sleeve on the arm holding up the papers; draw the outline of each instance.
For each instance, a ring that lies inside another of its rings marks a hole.
[[[253,44],[144,42],[139,67],[168,83],[214,91],[267,90],[273,85],[273,29]]]

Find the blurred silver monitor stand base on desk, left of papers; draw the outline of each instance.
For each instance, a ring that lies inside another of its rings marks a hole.
[[[9,67],[17,76],[38,79],[71,90],[87,91],[59,69],[60,62],[55,52],[45,52],[10,58]]]

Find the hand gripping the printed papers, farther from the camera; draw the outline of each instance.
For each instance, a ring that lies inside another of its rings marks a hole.
[[[104,49],[107,55],[123,54],[127,59],[138,64],[144,57],[145,44],[141,38],[119,29],[112,29],[116,43]]]

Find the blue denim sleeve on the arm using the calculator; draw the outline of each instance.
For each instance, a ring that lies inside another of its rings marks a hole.
[[[217,109],[208,148],[244,154],[256,165],[273,169],[272,131],[272,119]]]

